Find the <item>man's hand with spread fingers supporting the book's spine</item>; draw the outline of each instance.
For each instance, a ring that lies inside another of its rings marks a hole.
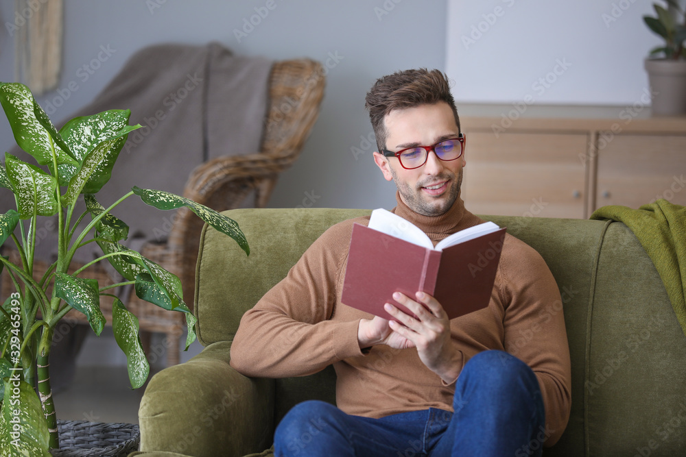
[[[390,328],[411,342],[423,364],[442,380],[448,384],[456,380],[461,356],[452,344],[450,320],[438,300],[423,292],[417,292],[414,300],[396,292],[393,299],[413,312],[416,319],[387,303],[384,308],[388,314],[401,322],[390,321]]]

